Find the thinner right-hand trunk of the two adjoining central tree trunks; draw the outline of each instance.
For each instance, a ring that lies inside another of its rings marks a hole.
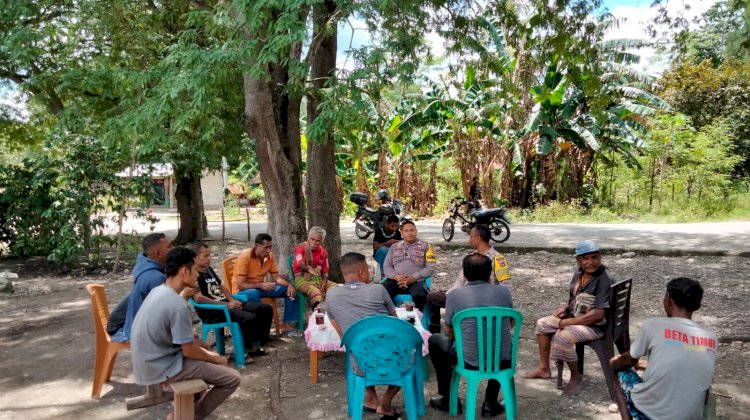
[[[336,12],[336,3],[326,0],[313,6],[313,36],[325,33],[311,62],[313,87],[308,96],[307,116],[312,123],[320,115],[321,89],[335,83],[336,74],[336,25],[327,28],[328,21]],[[336,197],[336,158],[333,133],[329,130],[322,138],[307,143],[307,219],[310,226],[321,226],[327,234],[323,246],[328,250],[328,263],[333,280],[341,280],[339,256],[341,234],[339,215],[341,208]]]

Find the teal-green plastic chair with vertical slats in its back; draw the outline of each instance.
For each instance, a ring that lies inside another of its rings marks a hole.
[[[477,359],[478,370],[467,369],[464,364],[463,332],[461,323],[466,319],[474,319],[477,325]],[[516,325],[513,328],[511,340],[511,364],[508,369],[500,369],[500,343],[502,343],[502,319],[511,318]],[[515,309],[488,306],[464,309],[453,316],[453,332],[456,336],[456,354],[458,363],[453,369],[451,380],[451,395],[448,414],[458,414],[458,385],[461,377],[466,378],[466,418],[474,419],[477,405],[477,391],[479,382],[484,379],[496,379],[500,382],[505,400],[505,415],[507,419],[516,417],[516,384],[513,376],[516,373],[516,353],[518,352],[518,337],[521,333],[523,315]],[[493,339],[494,337],[494,339]]]

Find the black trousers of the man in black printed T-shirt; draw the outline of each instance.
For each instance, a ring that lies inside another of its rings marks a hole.
[[[214,310],[200,310],[198,317],[203,322],[224,322],[223,312]],[[260,342],[261,345],[268,342],[268,334],[273,321],[273,308],[271,305],[258,302],[245,302],[242,309],[230,309],[229,317],[232,321],[240,324],[242,339],[245,347],[252,347],[253,343]]]

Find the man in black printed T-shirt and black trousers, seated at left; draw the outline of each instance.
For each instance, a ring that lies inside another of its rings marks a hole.
[[[183,296],[193,297],[197,303],[226,305],[232,321],[240,324],[245,348],[251,356],[263,356],[263,345],[268,342],[268,333],[273,320],[271,305],[258,302],[240,302],[232,298],[229,288],[211,268],[211,250],[206,244],[197,242],[189,247],[195,251],[198,267],[198,287],[186,289]],[[197,309],[198,317],[206,323],[224,322],[224,313],[211,309]]]

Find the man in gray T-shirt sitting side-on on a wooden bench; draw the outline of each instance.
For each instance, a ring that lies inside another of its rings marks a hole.
[[[202,419],[232,395],[240,374],[227,367],[226,357],[193,338],[190,306],[180,292],[196,287],[195,252],[184,247],[169,251],[166,274],[165,283],[148,294],[133,321],[133,376],[139,385],[203,379],[212,388],[195,405],[195,418]]]

